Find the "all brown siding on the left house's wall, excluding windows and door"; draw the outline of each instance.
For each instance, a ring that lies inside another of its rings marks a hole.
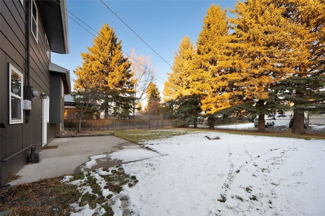
[[[25,7],[20,1],[0,1],[0,119],[6,128],[1,128],[0,150],[1,159],[7,158],[23,148],[33,144],[38,151],[42,150],[42,97],[34,98],[31,107],[29,123],[24,118],[23,124],[9,125],[9,80],[8,62],[12,63],[24,76],[24,87],[26,84],[26,39]],[[30,2],[29,2],[30,3]],[[39,4],[37,2],[37,4]],[[38,43],[34,40],[31,32],[30,37],[30,85],[32,89],[51,94],[49,58],[45,53],[45,30],[44,22],[39,11]],[[24,95],[25,96],[25,95]],[[50,97],[51,100],[52,97]],[[54,98],[52,98],[54,99]],[[63,100],[59,101],[62,103]],[[25,111],[24,111],[25,117]],[[49,124],[48,141],[53,138],[53,134],[59,130],[59,124]],[[19,154],[6,163],[1,163],[2,181],[8,178],[9,174],[14,174],[25,163],[30,151]],[[4,183],[4,182],[2,182]]]

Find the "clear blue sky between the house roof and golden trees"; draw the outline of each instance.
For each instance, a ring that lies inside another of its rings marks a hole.
[[[92,29],[98,32],[101,26],[107,23],[114,29],[117,39],[122,41],[124,53],[129,55],[135,48],[137,55],[150,56],[151,65],[158,71],[155,84],[162,92],[167,81],[167,73],[172,72],[170,65],[173,65],[175,51],[179,48],[181,40],[188,36],[195,44],[202,30],[203,18],[212,4],[219,5],[222,9],[234,9],[237,1],[104,0],[104,3],[168,63],[99,0],[67,0],[70,53],[68,55],[52,53],[51,61],[69,69],[71,79],[76,79],[73,71],[82,65],[80,53],[88,52],[87,46],[92,46],[94,35],[97,35]]]

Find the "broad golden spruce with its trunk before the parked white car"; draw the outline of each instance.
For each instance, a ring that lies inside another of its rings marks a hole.
[[[231,94],[242,98],[238,107],[258,114],[258,131],[263,132],[264,116],[283,109],[271,89],[292,73],[286,62],[291,56],[289,29],[293,25],[272,0],[238,2],[232,12],[237,18],[231,19],[231,61],[239,79]]]

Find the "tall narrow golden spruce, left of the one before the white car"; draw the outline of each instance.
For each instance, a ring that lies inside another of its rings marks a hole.
[[[203,20],[203,29],[197,42],[197,55],[193,60],[196,73],[190,75],[190,88],[203,95],[201,108],[209,117],[209,128],[214,128],[215,113],[230,106],[229,83],[225,76],[230,73],[229,23],[226,10],[212,5]]]

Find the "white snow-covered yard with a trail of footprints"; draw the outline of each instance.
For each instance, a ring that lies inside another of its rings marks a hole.
[[[325,215],[325,140],[193,131],[144,146],[155,152],[102,156],[141,159],[122,165],[139,182],[115,195],[114,215]]]

